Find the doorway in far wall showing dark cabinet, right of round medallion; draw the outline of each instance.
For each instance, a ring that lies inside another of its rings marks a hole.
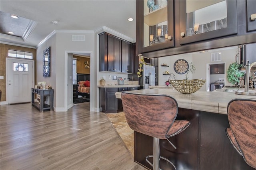
[[[226,62],[206,63],[206,91],[221,89],[226,84]]]

